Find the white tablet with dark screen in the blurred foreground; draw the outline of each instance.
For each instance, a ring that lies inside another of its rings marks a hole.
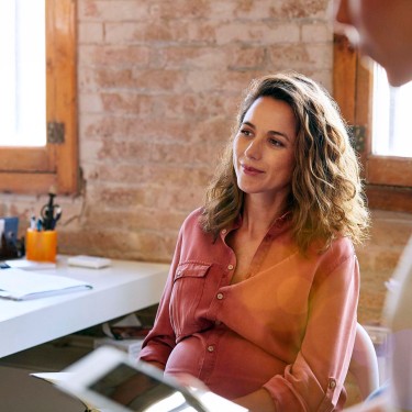
[[[67,371],[57,386],[101,411],[112,412],[246,412],[212,392],[180,386],[157,368],[133,363],[112,347],[101,347]]]

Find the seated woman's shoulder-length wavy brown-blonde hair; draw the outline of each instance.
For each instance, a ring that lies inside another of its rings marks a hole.
[[[255,79],[246,90],[234,133],[205,194],[200,219],[203,230],[216,236],[242,213],[244,192],[233,166],[233,140],[246,112],[260,97],[285,101],[297,119],[288,210],[300,250],[304,253],[314,241],[322,241],[322,249],[326,249],[337,236],[361,243],[370,218],[346,125],[327,91],[294,71]]]

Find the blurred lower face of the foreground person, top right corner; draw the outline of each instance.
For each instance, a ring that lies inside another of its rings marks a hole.
[[[379,63],[392,86],[412,80],[412,1],[334,0],[336,31]]]

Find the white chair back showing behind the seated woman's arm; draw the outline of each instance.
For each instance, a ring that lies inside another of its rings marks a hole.
[[[375,346],[365,327],[359,323],[356,327],[349,372],[355,378],[363,400],[379,388],[378,357]]]

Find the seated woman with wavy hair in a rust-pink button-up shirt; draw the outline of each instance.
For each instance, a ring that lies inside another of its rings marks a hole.
[[[342,409],[367,225],[327,93],[294,73],[253,81],[140,358],[250,411]]]

